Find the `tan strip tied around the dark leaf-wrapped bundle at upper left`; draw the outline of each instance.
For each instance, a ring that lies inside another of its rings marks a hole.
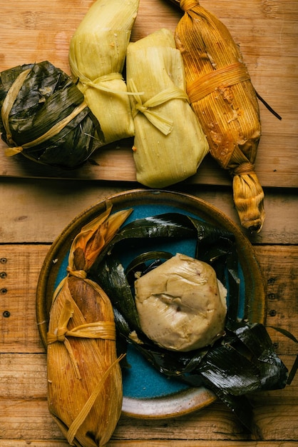
[[[31,69],[22,71],[21,74],[16,78],[14,83],[11,85],[11,88],[6,94],[6,98],[4,99],[3,106],[1,109],[1,119],[4,125],[4,129],[6,131],[6,138],[9,144],[14,145],[13,148],[6,149],[6,156],[14,156],[16,154],[19,154],[24,149],[29,149],[34,146],[38,146],[38,144],[42,144],[45,141],[53,138],[53,136],[56,136],[61,132],[64,127],[66,127],[73,119],[78,116],[78,114],[81,114],[81,111],[87,107],[87,104],[85,101],[83,101],[79,106],[76,107],[76,109],[73,109],[71,114],[66,116],[65,118],[61,119],[61,121],[58,121],[58,123],[54,124],[54,126],[51,127],[51,129],[48,129],[48,131],[39,136],[37,139],[30,141],[29,143],[25,143],[22,146],[16,146],[14,140],[12,139],[11,130],[9,127],[9,114],[11,112],[12,106],[14,105],[14,101],[16,101],[16,98],[19,94],[19,91],[21,90],[21,86],[24,84],[24,81],[26,79],[26,76],[29,74]]]

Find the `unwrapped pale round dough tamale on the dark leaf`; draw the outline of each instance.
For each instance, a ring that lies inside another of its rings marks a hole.
[[[135,281],[143,332],[173,351],[212,345],[225,333],[226,297],[214,268],[180,253]]]

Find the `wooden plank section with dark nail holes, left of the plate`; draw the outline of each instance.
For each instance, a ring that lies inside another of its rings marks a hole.
[[[36,325],[35,293],[47,251],[47,246],[1,246],[1,353],[43,351]]]

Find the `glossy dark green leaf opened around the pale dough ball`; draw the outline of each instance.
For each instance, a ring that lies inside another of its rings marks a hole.
[[[196,241],[195,258],[215,269],[217,278],[228,290],[228,308],[225,336],[213,346],[174,352],[160,348],[143,333],[135,307],[133,283],[135,271],[146,273],[175,255],[168,250],[150,251],[152,241],[183,238],[193,238]],[[143,253],[123,268],[121,253],[136,245],[143,247]],[[111,297],[121,352],[125,351],[127,343],[133,343],[160,373],[190,386],[209,388],[231,408],[246,429],[255,431],[247,394],[284,388],[288,371],[274,352],[262,323],[237,316],[240,281],[237,246],[232,233],[183,214],[138,219],[124,226],[113,238],[98,258],[91,275]],[[133,331],[138,335],[138,341],[130,337]]]

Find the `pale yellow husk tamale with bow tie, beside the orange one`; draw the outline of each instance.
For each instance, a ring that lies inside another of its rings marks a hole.
[[[209,147],[188,103],[183,60],[173,34],[160,29],[130,42],[126,70],[128,89],[135,93],[130,101],[137,180],[163,188],[187,179]]]

